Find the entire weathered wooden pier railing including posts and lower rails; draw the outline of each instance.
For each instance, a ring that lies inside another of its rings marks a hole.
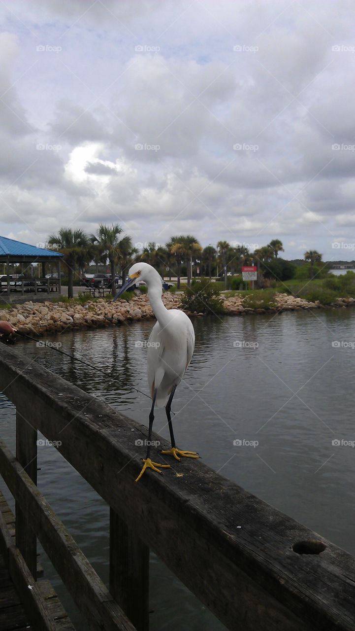
[[[351,555],[201,461],[135,483],[146,427],[6,346],[0,386],[16,405],[16,457],[0,449],[16,546],[33,574],[38,538],[89,628],[148,629],[151,548],[230,629],[354,629]],[[110,506],[109,590],[36,487],[37,430]]]

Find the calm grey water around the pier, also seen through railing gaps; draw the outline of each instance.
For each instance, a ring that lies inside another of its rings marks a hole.
[[[17,349],[146,422],[149,400],[132,386],[147,392],[146,350],[135,342],[148,339],[152,324],[50,338],[107,377],[32,342]],[[355,555],[355,449],[341,444],[355,440],[355,310],[206,318],[194,326],[194,357],[173,402],[178,444]],[[1,397],[1,433],[13,447],[15,410]],[[168,438],[164,410],[156,412],[154,429]],[[256,447],[243,444],[255,440]],[[107,506],[54,448],[38,452],[38,486],[107,582]],[[86,629],[49,562],[41,560],[78,628]],[[224,628],[154,555],[151,610],[156,631]]]

